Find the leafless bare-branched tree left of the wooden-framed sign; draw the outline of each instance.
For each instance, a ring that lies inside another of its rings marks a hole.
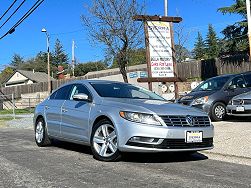
[[[142,14],[143,6],[136,0],[92,0],[87,7],[90,17],[82,15],[82,22],[96,42],[106,46],[106,55],[118,62],[125,82],[128,52],[142,44],[142,23],[132,17]]]

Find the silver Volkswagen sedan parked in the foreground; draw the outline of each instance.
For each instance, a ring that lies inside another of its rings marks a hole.
[[[82,80],[61,86],[35,109],[35,141],[91,146],[96,159],[121,152],[195,152],[213,148],[214,127],[204,112],[173,104],[131,84]]]

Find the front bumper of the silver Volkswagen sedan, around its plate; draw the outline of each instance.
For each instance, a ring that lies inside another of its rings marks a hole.
[[[214,128],[150,126],[122,120],[117,124],[118,148],[126,152],[179,152],[199,151],[213,148]],[[187,131],[202,131],[200,143],[186,143]],[[133,138],[144,141],[134,141]]]

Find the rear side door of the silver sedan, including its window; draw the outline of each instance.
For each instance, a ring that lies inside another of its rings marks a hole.
[[[69,97],[71,85],[64,86],[55,91],[48,99],[44,107],[45,120],[47,123],[48,134],[59,137],[62,105]]]

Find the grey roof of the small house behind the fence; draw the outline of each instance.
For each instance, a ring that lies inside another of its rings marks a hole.
[[[19,72],[23,76],[27,77],[28,79],[32,80],[33,82],[47,82],[48,81],[48,74],[45,72],[33,72],[33,71],[25,71],[25,70],[16,70],[10,77],[9,79],[6,80],[5,83],[7,83],[10,78],[16,73]],[[51,77],[51,80],[55,80],[54,78]]]

